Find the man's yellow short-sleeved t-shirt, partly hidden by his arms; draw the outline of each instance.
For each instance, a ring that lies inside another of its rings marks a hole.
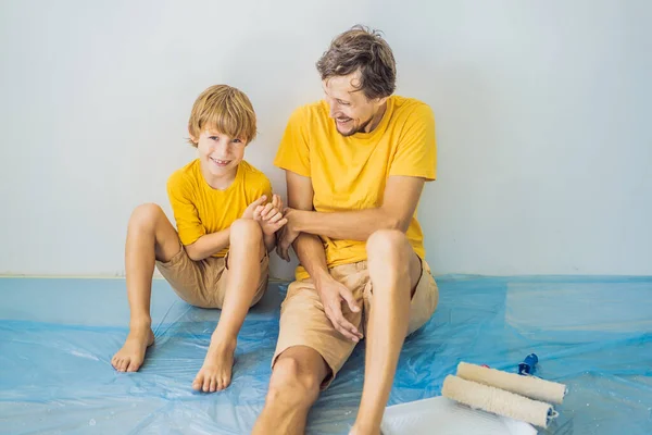
[[[317,212],[377,208],[392,175],[435,179],[435,117],[426,103],[392,96],[373,132],[343,137],[328,116],[328,104],[315,102],[292,113],[274,164],[312,179]],[[406,235],[414,251],[424,258],[416,211]],[[365,241],[321,237],[329,268],[366,259]],[[296,275],[297,279],[309,276],[302,266]]]

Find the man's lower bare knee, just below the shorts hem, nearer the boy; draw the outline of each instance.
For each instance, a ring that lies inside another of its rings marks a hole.
[[[294,356],[278,358],[269,381],[269,400],[304,403],[316,400],[322,380]]]

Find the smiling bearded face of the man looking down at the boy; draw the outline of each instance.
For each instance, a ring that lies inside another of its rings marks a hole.
[[[367,99],[362,90],[358,90],[360,73],[340,75],[322,82],[324,99],[330,108],[330,117],[342,136],[356,133],[368,133],[379,120],[379,111],[384,109],[387,98]]]

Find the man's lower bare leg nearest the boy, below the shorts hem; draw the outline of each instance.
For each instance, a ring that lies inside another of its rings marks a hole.
[[[328,370],[322,356],[310,347],[294,346],[284,351],[274,364],[265,407],[251,434],[304,434],[308,412],[319,396]]]

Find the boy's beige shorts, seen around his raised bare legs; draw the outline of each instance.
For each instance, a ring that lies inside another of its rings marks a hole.
[[[156,261],[156,269],[179,298],[200,308],[222,308],[228,279],[228,253],[226,257],[209,257],[193,261],[183,246],[168,262]],[[266,250],[260,261],[260,268],[261,279],[251,306],[261,300],[267,288],[269,257]]]

